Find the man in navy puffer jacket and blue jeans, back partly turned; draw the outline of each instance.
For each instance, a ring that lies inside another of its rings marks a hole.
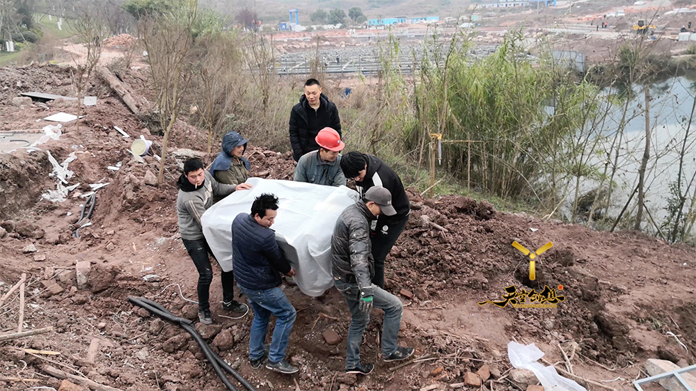
[[[290,340],[295,309],[280,289],[280,273],[294,276],[271,230],[278,214],[278,198],[262,194],[251,205],[251,214],[238,214],[232,222],[232,270],[239,289],[248,298],[254,310],[249,335],[249,361],[254,369],[268,358],[266,367],[283,374],[294,374],[299,369],[285,360]],[[276,327],[269,352],[264,351],[264,340],[271,314]],[[267,357],[268,356],[268,357]]]

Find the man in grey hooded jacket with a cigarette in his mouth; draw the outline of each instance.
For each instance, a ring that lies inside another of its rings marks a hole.
[[[217,182],[203,168],[203,161],[189,159],[184,163],[184,173],[177,181],[179,194],[176,200],[176,210],[179,222],[179,233],[184,247],[191,256],[198,270],[198,319],[203,324],[212,324],[210,314],[209,290],[213,280],[209,255],[212,250],[203,236],[203,225],[200,218],[213,205],[212,196],[228,196],[236,190],[251,189],[246,183],[232,186]],[[235,301],[235,277],[232,271],[222,272],[223,309],[240,311],[244,305]]]

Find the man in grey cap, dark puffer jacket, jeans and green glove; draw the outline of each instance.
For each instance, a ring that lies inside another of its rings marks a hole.
[[[336,221],[331,237],[333,284],[343,294],[351,312],[348,330],[346,372],[369,374],[373,364],[360,361],[360,345],[365,326],[370,321],[372,305],[384,310],[382,325],[382,358],[397,361],[409,358],[413,348],[397,345],[399,326],[404,310],[399,298],[372,284],[374,260],[370,251],[370,221],[384,214],[394,216],[391,194],[381,186],[365,193],[365,201],[347,207]]]

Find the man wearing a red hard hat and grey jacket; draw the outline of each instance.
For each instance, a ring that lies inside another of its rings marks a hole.
[[[345,143],[338,131],[325,127],[315,137],[319,150],[304,154],[297,162],[295,180],[326,186],[345,186],[346,177],[341,170],[341,155]]]

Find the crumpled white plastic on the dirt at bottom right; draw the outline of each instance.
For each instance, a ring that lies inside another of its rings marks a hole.
[[[525,346],[512,341],[507,344],[507,356],[513,367],[534,372],[544,386],[544,391],[586,391],[575,381],[560,376],[554,367],[545,367],[537,362],[544,357],[544,352],[535,344]]]

